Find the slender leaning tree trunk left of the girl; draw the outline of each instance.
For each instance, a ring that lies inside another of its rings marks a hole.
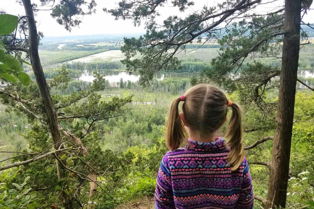
[[[60,147],[60,149],[63,149],[64,147],[61,145],[62,136],[59,130],[57,114],[52,105],[52,100],[49,93],[48,85],[46,82],[46,78],[45,78],[45,75],[41,66],[39,54],[38,54],[38,37],[37,37],[37,28],[36,28],[34,13],[33,13],[33,6],[30,0],[22,0],[22,1],[23,1],[24,9],[25,9],[25,14],[27,16],[27,25],[28,25],[28,31],[29,31],[30,62],[32,64],[37,86],[41,95],[41,100],[44,105],[43,109],[45,110],[47,124],[51,133],[54,148],[59,149]],[[60,156],[61,153],[58,153],[57,155]],[[65,170],[62,169],[58,163],[57,163],[57,172],[58,172],[57,174],[58,180],[61,180],[62,178],[66,177]],[[63,189],[67,189],[66,187],[64,187]],[[62,202],[65,208],[67,209],[73,208],[71,196],[67,195],[63,190],[62,190],[61,198],[62,198]]]

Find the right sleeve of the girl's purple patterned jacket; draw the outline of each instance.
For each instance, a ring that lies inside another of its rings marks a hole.
[[[249,165],[247,164],[246,158],[244,158],[243,163],[244,163],[243,182],[236,208],[252,209],[254,204],[252,177],[250,174]]]

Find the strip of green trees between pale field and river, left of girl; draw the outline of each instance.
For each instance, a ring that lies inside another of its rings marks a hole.
[[[115,70],[124,65],[121,62],[73,62],[65,63],[65,66],[74,70]]]

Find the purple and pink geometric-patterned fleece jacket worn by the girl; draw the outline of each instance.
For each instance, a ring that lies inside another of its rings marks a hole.
[[[188,139],[189,146],[169,151],[161,161],[156,209],[252,209],[252,178],[244,158],[237,170],[226,162],[224,138],[210,143]]]

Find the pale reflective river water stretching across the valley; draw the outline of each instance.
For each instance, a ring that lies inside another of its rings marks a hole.
[[[120,79],[122,78],[123,81],[138,81],[140,75],[139,73],[135,72],[132,75],[129,75],[127,72],[125,71],[110,71],[110,70],[98,70],[98,72],[101,75],[105,75],[105,79],[109,81],[109,83],[116,83],[119,82]],[[200,76],[200,73],[175,73],[175,72],[171,72],[171,73],[155,73],[154,74],[154,78],[157,80],[164,80],[165,78],[192,78],[193,76],[198,77]],[[236,76],[236,75],[235,75]],[[228,77],[233,77],[232,75],[229,75]],[[314,71],[300,71],[298,73],[298,77],[314,77]],[[83,71],[83,73],[81,74],[81,76],[78,78],[78,80],[80,81],[89,81],[92,82],[94,80],[94,74],[93,71],[88,71],[85,70]]]

